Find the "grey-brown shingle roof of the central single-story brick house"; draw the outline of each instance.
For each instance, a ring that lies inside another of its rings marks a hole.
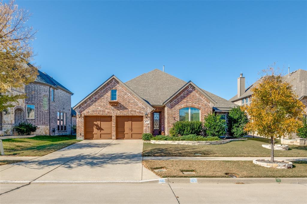
[[[181,89],[187,82],[169,75],[161,70],[155,69],[148,73],[142,74],[125,84],[135,93],[151,105],[162,105],[169,97]],[[208,94],[216,104],[214,108],[220,110],[228,110],[237,106],[236,104],[214,95],[204,89],[204,93]]]

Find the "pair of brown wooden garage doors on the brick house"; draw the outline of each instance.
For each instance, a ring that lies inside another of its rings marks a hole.
[[[112,139],[112,116],[84,117],[84,139]],[[143,116],[116,116],[116,139],[142,139]]]

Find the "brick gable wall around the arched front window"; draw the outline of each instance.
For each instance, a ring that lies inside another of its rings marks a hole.
[[[179,121],[179,109],[186,107],[200,109],[200,121],[202,122],[204,122],[205,115],[212,113],[210,101],[195,87],[189,85],[165,105],[165,134],[169,134],[173,123]]]

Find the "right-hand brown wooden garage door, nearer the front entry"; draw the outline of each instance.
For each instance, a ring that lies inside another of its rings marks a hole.
[[[143,116],[117,116],[116,139],[142,139]]]

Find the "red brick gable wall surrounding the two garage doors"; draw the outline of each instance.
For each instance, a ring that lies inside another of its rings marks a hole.
[[[111,89],[117,89],[118,104],[111,105]],[[139,115],[143,116],[144,133],[150,133],[151,110],[140,99],[127,90],[114,78],[101,87],[90,98],[77,108],[77,138],[84,139],[84,115],[112,116],[112,139],[116,139],[116,116]],[[148,116],[145,115],[148,114]]]

